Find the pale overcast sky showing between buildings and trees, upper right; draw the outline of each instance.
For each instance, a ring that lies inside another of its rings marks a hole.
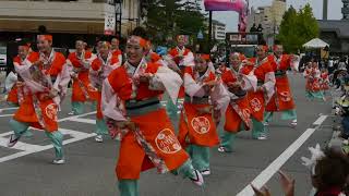
[[[250,0],[250,7],[264,7],[270,5],[273,0]],[[306,3],[310,3],[313,8],[313,12],[316,19],[322,19],[323,0],[287,0],[287,4],[293,5],[299,9]],[[341,0],[328,0],[328,20],[341,19]],[[238,14],[234,12],[214,12],[214,20],[220,21],[227,24],[227,30],[233,32],[238,27]]]

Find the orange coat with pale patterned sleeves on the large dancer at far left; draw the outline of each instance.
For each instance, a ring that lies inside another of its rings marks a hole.
[[[34,54],[33,61],[37,61],[39,56]],[[25,85],[31,94],[27,94],[14,114],[13,119],[20,122],[29,123],[31,126],[46,130],[48,132],[58,131],[58,107],[60,97],[63,97],[67,85],[70,81],[69,71],[65,65],[65,58],[60,52],[52,50],[48,64],[39,64],[37,70],[33,70],[32,63],[19,64],[17,73],[25,81]],[[38,73],[41,73],[39,75]],[[47,85],[51,79],[51,85]],[[55,88],[59,96],[48,98],[49,90]]]

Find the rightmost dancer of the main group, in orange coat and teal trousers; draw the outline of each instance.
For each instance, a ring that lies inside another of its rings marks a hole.
[[[268,56],[275,73],[276,84],[275,94],[265,109],[264,124],[268,125],[274,112],[281,112],[281,120],[291,120],[291,125],[297,126],[296,105],[287,76],[288,69],[294,69],[292,68],[293,56],[282,54],[282,45],[277,44],[274,46],[274,54]]]

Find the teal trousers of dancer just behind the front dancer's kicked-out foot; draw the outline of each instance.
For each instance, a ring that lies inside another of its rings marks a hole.
[[[198,171],[209,170],[209,147],[190,145],[186,148],[190,155],[193,167]]]

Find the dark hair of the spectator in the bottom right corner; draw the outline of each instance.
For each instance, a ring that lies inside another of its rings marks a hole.
[[[346,156],[332,149],[325,151],[326,157],[318,160],[315,167],[315,175],[318,189],[329,187],[344,187],[349,175],[349,160]]]

